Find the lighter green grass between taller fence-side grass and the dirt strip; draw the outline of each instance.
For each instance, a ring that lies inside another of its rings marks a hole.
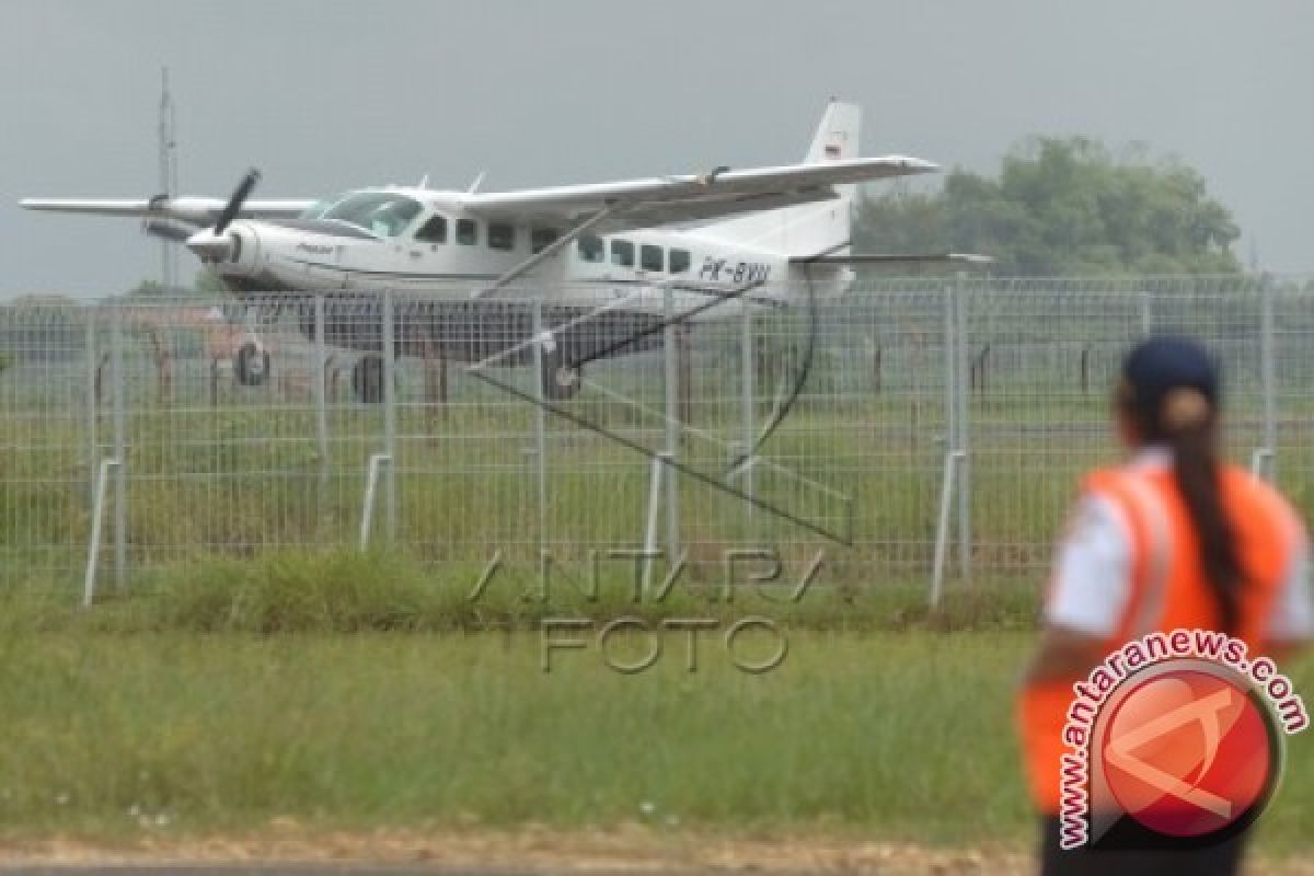
[[[42,634],[0,646],[0,835],[313,829],[820,830],[1022,844],[1018,633],[796,633],[775,672],[708,654],[540,671],[532,634]],[[711,649],[708,649],[711,650]],[[1294,667],[1303,690],[1314,663]],[[1310,741],[1264,821],[1310,851]]]

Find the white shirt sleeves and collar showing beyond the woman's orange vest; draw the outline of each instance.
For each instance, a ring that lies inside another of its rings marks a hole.
[[[1133,468],[1163,468],[1172,464],[1166,448],[1146,448]],[[1055,557],[1054,578],[1045,605],[1045,620],[1089,636],[1112,636],[1131,598],[1133,538],[1121,508],[1110,499],[1081,499],[1072,524]],[[1273,603],[1268,640],[1298,641],[1314,637],[1314,596],[1310,592],[1309,544],[1301,540],[1292,552]]]

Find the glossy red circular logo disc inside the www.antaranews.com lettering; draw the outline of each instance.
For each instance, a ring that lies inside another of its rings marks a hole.
[[[1125,813],[1164,837],[1205,838],[1259,814],[1280,751],[1272,717],[1244,680],[1173,667],[1133,683],[1100,754]]]

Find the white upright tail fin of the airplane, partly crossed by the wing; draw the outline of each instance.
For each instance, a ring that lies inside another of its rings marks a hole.
[[[832,100],[817,125],[804,164],[858,158],[862,108]],[[791,256],[848,252],[857,186],[837,185],[838,200],[736,217],[706,229],[725,240],[774,250]]]

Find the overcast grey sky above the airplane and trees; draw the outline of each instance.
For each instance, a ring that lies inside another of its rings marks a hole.
[[[1146,142],[1205,175],[1244,261],[1314,271],[1306,0],[5,0],[0,297],[158,276],[135,221],[14,202],[155,193],[166,64],[188,194],[248,165],[256,197],[314,197],[784,163],[837,95],[869,155],[993,172],[1029,134]]]

